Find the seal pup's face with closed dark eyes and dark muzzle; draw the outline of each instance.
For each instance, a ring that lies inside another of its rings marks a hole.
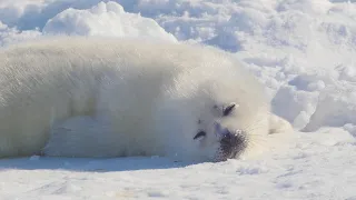
[[[204,113],[197,121],[198,130],[192,140],[198,141],[201,151],[215,149],[209,156],[212,161],[237,158],[247,148],[246,132],[236,127],[237,109],[236,103],[215,104],[210,113]]]

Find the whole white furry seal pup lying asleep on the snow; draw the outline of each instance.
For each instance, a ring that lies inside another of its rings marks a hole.
[[[2,49],[0,61],[0,157],[222,161],[290,128],[214,48],[63,37]]]

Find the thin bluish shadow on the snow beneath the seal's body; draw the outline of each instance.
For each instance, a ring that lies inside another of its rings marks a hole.
[[[185,168],[192,162],[176,162],[168,158],[127,157],[127,158],[49,158],[27,157],[1,159],[0,170],[68,170],[68,171],[135,171],[151,169]]]

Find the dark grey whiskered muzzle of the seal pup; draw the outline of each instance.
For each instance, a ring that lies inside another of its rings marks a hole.
[[[219,149],[214,159],[216,162],[237,158],[247,148],[246,134],[241,130],[235,131],[234,133],[225,131],[220,134],[219,143]]]

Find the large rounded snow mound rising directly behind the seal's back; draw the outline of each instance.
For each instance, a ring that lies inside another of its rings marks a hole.
[[[105,37],[149,37],[160,40],[177,41],[159,24],[139,14],[127,13],[112,1],[88,10],[67,9],[50,19],[44,28],[46,34],[76,34]]]

